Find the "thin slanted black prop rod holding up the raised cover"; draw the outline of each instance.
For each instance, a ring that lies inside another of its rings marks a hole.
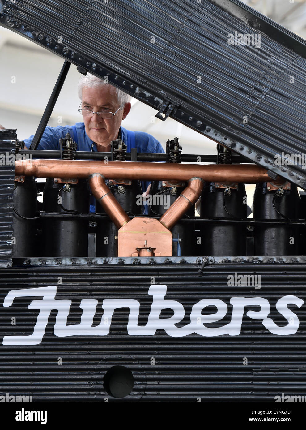
[[[43,132],[46,129],[46,125],[48,124],[48,121],[49,121],[50,116],[52,114],[53,108],[54,108],[55,103],[58,99],[58,95],[61,92],[61,88],[64,84],[65,79],[66,79],[68,70],[70,68],[70,64],[71,63],[69,63],[69,61],[67,61],[67,60],[64,61],[63,67],[61,68],[60,74],[58,75],[58,79],[55,83],[55,86],[54,86],[52,94],[49,98],[46,109],[43,113],[43,116],[41,117],[39,126],[36,130],[36,133],[34,135],[32,143],[30,145],[31,150],[35,150],[37,148],[38,144],[40,143],[40,139],[43,135]]]

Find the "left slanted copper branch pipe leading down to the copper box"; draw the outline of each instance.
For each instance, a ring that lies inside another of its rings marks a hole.
[[[120,228],[130,221],[128,215],[124,212],[110,189],[105,184],[104,177],[102,175],[99,173],[91,175],[89,177],[89,186],[92,190],[92,194],[103,206],[105,212],[116,227]]]

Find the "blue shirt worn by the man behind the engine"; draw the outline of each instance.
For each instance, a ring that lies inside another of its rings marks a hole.
[[[66,133],[69,133],[72,140],[76,142],[77,151],[98,151],[95,142],[92,141],[86,134],[84,123],[76,123],[74,126],[46,126],[37,149],[59,151],[59,140],[61,137],[65,137]],[[127,152],[131,152],[131,149],[136,148],[137,152],[165,154],[165,151],[162,149],[162,145],[159,143],[159,141],[148,133],[132,132],[120,127],[118,135],[121,135],[122,141],[126,144]],[[26,147],[30,147],[33,138],[34,135],[30,136],[28,139],[24,139],[24,144]],[[146,191],[150,183],[150,181],[142,181],[142,190]]]

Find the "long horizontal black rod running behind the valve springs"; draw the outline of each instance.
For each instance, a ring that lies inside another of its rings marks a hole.
[[[24,155],[32,155],[35,158],[44,158],[44,159],[60,159],[60,152],[61,151],[48,151],[48,150],[40,150],[37,149],[35,151],[31,149],[23,149],[18,152],[18,154],[24,154]],[[76,151],[75,158],[78,160],[105,160],[105,157],[108,157],[109,160],[111,158],[110,152],[96,152],[96,151]],[[202,155],[196,155],[196,154],[182,154],[181,160],[187,163],[196,163],[199,161],[199,157],[201,160],[201,163],[217,163],[217,156],[216,155],[208,155],[208,154],[202,154]],[[138,161],[166,161],[167,154],[150,154],[141,152],[137,154],[137,160]],[[254,164],[253,161],[248,160],[245,157],[239,156],[239,155],[233,155],[232,156],[233,163],[248,163],[248,164]],[[126,160],[131,160],[131,153],[126,153]]]

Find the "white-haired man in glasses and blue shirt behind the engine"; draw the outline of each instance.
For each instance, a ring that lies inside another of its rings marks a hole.
[[[153,136],[145,132],[132,132],[121,126],[131,109],[128,94],[87,74],[79,81],[78,95],[83,123],[47,126],[37,149],[59,150],[59,139],[70,133],[77,143],[78,151],[109,152],[110,142],[121,136],[127,145],[127,152],[136,148],[138,152],[164,153],[161,144]],[[24,139],[26,147],[30,147],[33,137]]]

